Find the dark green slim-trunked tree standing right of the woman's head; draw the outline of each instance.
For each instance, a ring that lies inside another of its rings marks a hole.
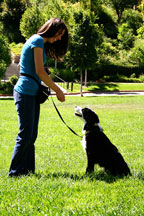
[[[82,94],[82,71],[94,68],[98,59],[97,46],[102,42],[102,33],[98,24],[95,24],[93,14],[78,11],[74,13],[74,20],[68,58],[71,68],[80,71]]]

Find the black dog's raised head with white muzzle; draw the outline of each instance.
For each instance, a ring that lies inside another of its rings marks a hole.
[[[81,108],[79,106],[76,106],[75,116],[78,116],[84,121],[84,130],[90,130],[90,128],[92,128],[93,126],[100,126],[97,114],[90,108]]]

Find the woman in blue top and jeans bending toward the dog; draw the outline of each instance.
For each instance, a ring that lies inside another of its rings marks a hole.
[[[20,73],[29,74],[43,81],[56,92],[58,100],[65,101],[60,88],[44,69],[46,56],[61,60],[68,48],[68,30],[58,18],[48,20],[23,46]],[[40,105],[36,102],[39,85],[30,77],[20,76],[14,87],[14,101],[18,113],[19,132],[12,155],[9,176],[35,172],[34,143],[38,133]]]

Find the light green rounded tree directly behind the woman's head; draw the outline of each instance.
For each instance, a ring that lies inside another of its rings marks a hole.
[[[50,18],[60,17],[67,21],[66,5],[61,0],[31,0],[32,5],[22,15],[20,21],[21,34],[27,39]]]

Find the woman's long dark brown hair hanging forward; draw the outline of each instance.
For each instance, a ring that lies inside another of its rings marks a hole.
[[[38,35],[51,38],[56,33],[61,34],[65,30],[61,40],[57,40],[50,44],[45,43],[45,52],[47,56],[60,60],[67,52],[68,49],[68,29],[63,20],[59,18],[52,18],[48,20],[37,32]]]

